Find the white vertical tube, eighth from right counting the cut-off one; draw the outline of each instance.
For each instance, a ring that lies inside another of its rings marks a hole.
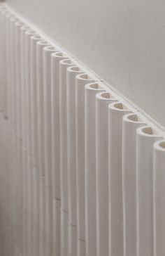
[[[76,75],[82,72],[76,65],[67,68],[66,72],[69,255],[73,256],[77,256]]]

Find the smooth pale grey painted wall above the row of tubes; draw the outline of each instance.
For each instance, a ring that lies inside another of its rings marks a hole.
[[[8,0],[165,126],[163,0]]]

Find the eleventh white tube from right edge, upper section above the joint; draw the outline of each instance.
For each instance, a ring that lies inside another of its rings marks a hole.
[[[43,49],[43,119],[45,147],[45,185],[52,187],[52,86],[51,55],[57,51],[54,46]]]

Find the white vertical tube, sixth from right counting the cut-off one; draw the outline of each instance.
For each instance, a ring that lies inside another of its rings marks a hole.
[[[96,255],[96,94],[101,82],[85,86],[85,252]]]

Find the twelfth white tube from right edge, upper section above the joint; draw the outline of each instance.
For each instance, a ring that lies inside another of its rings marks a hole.
[[[38,165],[41,176],[45,177],[44,153],[44,120],[43,120],[43,48],[48,46],[47,41],[36,43],[36,86],[37,86],[37,113],[38,113]]]

